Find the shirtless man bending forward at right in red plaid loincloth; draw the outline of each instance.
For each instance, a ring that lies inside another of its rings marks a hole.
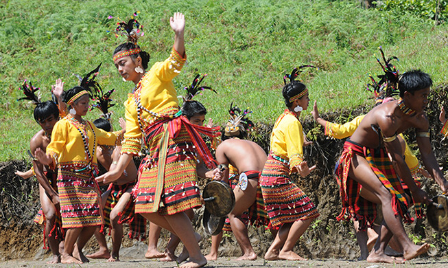
[[[402,219],[410,221],[410,215],[397,176],[408,186],[415,202],[427,204],[432,201],[412,179],[397,135],[406,129],[416,130],[416,141],[425,168],[443,192],[448,190],[448,182],[440,172],[432,152],[429,122],[423,111],[431,86],[431,78],[422,71],[408,71],[401,75],[398,85],[400,99],[372,109],[344,144],[336,172],[342,185],[340,194],[343,208],[338,219],[344,218],[345,212],[349,212],[349,218],[364,216],[364,221],[360,221],[363,227],[371,225],[376,216],[376,203],[381,204],[384,216],[377,243],[367,258],[368,262],[398,261],[384,254],[392,234],[401,243],[405,260],[415,258],[429,249],[427,243],[421,246],[412,243],[403,228]],[[363,205],[358,206],[355,201],[359,185],[362,186],[359,202]],[[362,210],[367,206],[370,210]]]

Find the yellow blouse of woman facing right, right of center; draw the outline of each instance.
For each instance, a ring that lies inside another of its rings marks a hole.
[[[285,110],[272,129],[271,150],[290,161],[290,172],[303,162],[303,129],[302,124],[292,112]]]

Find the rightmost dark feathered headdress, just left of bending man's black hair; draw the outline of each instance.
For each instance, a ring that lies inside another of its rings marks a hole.
[[[382,47],[378,48],[381,52],[381,58],[384,60],[384,64],[381,63],[381,60],[377,58],[377,62],[381,69],[383,69],[384,74],[378,75],[379,82],[375,80],[372,76],[369,75],[371,83],[367,84],[367,90],[373,92],[375,96],[375,100],[378,103],[381,103],[382,100],[396,96],[398,94],[397,85],[399,80],[399,70],[397,67],[390,63],[392,60],[399,60],[396,56],[391,56],[386,60],[386,56],[384,56],[384,52]]]

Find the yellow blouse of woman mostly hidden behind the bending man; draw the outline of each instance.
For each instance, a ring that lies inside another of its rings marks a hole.
[[[366,115],[359,115],[350,122],[346,122],[345,124],[337,124],[327,121],[327,124],[325,124],[325,135],[334,137],[335,139],[344,139],[346,137],[350,137],[355,132],[364,116]],[[403,134],[400,134],[400,136],[405,141],[404,158],[406,165],[410,169],[412,175],[416,175],[416,173],[419,172],[422,167],[418,163],[417,157],[411,152],[408,146],[408,142],[406,142]]]

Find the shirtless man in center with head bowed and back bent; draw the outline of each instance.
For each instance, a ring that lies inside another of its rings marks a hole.
[[[233,124],[236,124],[235,126]],[[219,164],[224,164],[226,168],[221,171],[220,168],[213,170],[214,177],[228,183],[229,168],[231,164],[233,168],[239,171],[239,182],[233,189],[235,194],[235,208],[228,214],[231,228],[235,238],[241,247],[242,256],[237,260],[256,260],[255,254],[248,236],[248,230],[241,215],[252,205],[257,206],[257,214],[263,215],[264,205],[258,207],[257,194],[261,194],[258,186],[258,179],[263,171],[266,159],[268,159],[265,151],[255,142],[244,140],[247,137],[247,124],[244,120],[229,120],[225,131],[222,135],[222,143],[217,146],[215,157]],[[262,208],[261,208],[262,207]],[[267,225],[267,214],[264,217],[258,215],[257,222],[254,225]],[[213,239],[213,238],[212,238]],[[219,245],[219,243],[218,243]],[[206,258],[211,258],[206,256]]]

